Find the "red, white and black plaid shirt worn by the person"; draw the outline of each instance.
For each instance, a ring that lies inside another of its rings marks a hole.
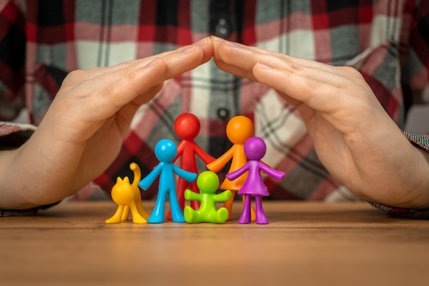
[[[428,19],[429,1],[415,0],[1,1],[0,120],[26,106],[37,125],[69,71],[151,56],[215,34],[354,67],[402,126],[411,104],[429,102]],[[266,179],[270,198],[355,198],[321,165],[293,106],[265,85],[220,71],[212,60],[166,82],[138,110],[117,160],[95,184],[110,191],[117,176],[130,176],[131,162],[145,176],[158,163],[154,145],[163,138],[178,142],[173,121],[182,112],[199,117],[196,142],[216,158],[231,145],[228,119],[251,118],[267,143],[264,161],[286,173],[281,182]]]

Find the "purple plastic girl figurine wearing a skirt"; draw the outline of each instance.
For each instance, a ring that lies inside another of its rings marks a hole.
[[[262,196],[269,195],[269,192],[260,172],[264,171],[267,175],[275,178],[275,180],[282,180],[284,173],[271,169],[271,167],[260,161],[265,156],[265,152],[267,152],[267,145],[259,137],[249,138],[244,145],[244,152],[247,158],[249,158],[249,162],[240,169],[226,175],[229,180],[235,180],[247,172],[247,179],[243,187],[238,191],[238,194],[245,196],[243,212],[238,219],[238,224],[249,224],[251,222],[252,195],[255,198],[256,224],[268,224],[267,216],[262,208]]]

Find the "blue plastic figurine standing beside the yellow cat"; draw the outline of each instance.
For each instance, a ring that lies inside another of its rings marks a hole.
[[[155,145],[155,156],[160,163],[143,179],[138,182],[138,187],[147,190],[156,178],[160,176],[158,197],[154,211],[152,211],[147,222],[149,224],[160,224],[164,222],[164,203],[169,194],[171,217],[173,222],[186,222],[177,200],[174,174],[193,182],[197,179],[197,174],[185,171],[174,165],[173,160],[177,155],[177,146],[169,139],[162,139]]]

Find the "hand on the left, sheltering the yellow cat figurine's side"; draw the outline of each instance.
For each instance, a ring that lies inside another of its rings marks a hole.
[[[8,168],[0,175],[0,208],[50,204],[84,187],[117,157],[140,105],[165,80],[210,58],[212,42],[205,38],[149,58],[71,72],[29,141],[1,155]]]

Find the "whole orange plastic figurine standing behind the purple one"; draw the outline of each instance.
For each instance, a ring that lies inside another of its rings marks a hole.
[[[243,167],[243,165],[247,163],[247,157],[244,154],[244,143],[247,139],[254,136],[254,123],[252,122],[252,120],[243,115],[232,117],[232,119],[228,121],[228,124],[226,126],[226,136],[234,145],[232,145],[230,150],[225,152],[225,154],[207,165],[207,168],[210,171],[218,173],[219,171],[221,171],[221,169],[223,169],[223,167],[225,167],[226,163],[228,163],[229,160],[231,160],[231,166],[228,172],[235,171],[236,169]],[[232,192],[232,197],[230,198],[230,200],[226,201],[225,204],[223,204],[223,206],[228,209],[228,220],[231,219],[234,195],[238,190],[241,189],[241,186],[243,186],[246,178],[247,174],[239,176],[234,181],[225,178],[225,180],[221,184],[221,189],[230,190]],[[254,220],[254,211],[252,212],[252,220]]]

